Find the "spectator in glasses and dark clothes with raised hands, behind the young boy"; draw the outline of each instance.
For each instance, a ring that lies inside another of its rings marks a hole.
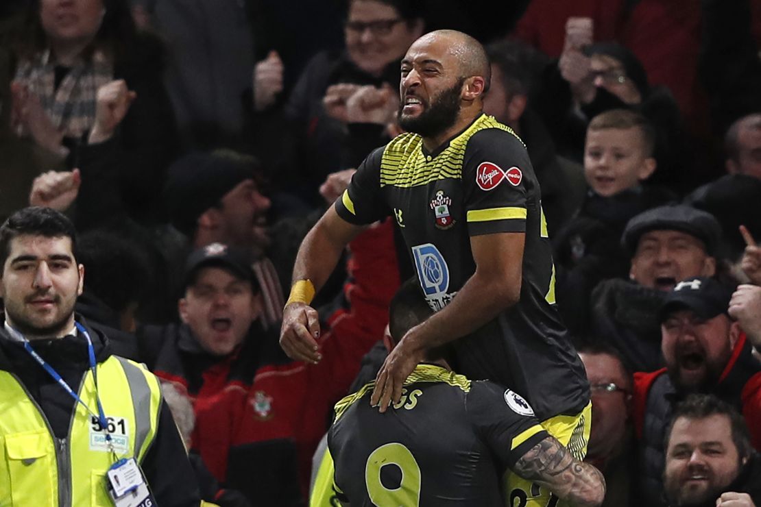
[[[581,160],[588,122],[610,109],[632,109],[655,128],[658,171],[652,182],[683,191],[708,176],[696,148],[686,142],[679,106],[667,88],[648,82],[637,56],[618,43],[592,43],[591,33],[578,39],[568,35],[556,74],[543,81],[536,101],[559,152]]]

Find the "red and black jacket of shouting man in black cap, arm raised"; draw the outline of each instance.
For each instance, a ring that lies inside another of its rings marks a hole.
[[[297,480],[306,496],[311,458],[333,405],[347,394],[361,358],[383,337],[388,304],[400,285],[393,224],[371,227],[350,248],[348,304],[328,318],[317,365],[288,360],[277,336],[257,325],[221,360],[205,354],[186,325],[142,332],[149,368],[193,398],[192,450],[217,480],[256,505],[298,505],[292,498]]]

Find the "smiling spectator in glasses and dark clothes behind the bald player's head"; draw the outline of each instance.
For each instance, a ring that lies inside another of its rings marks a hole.
[[[322,205],[317,189],[326,177],[351,166],[342,160],[349,97],[368,85],[395,88],[399,82],[399,60],[423,29],[417,2],[352,0],[348,5],[345,51],[315,55],[285,105],[294,141],[281,139],[280,134],[273,136],[273,142],[285,154],[280,155],[285,160],[277,162],[303,172],[298,184],[294,183],[293,173],[286,171],[286,178],[275,177],[276,185],[314,206]],[[383,139],[378,139],[372,146],[383,143]],[[297,150],[293,149],[294,144]]]

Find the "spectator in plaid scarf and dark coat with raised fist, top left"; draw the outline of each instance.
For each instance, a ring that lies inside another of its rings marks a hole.
[[[78,227],[123,211],[154,220],[174,118],[161,46],[135,30],[126,0],[29,2],[10,47],[11,132],[38,156],[3,178],[78,168],[65,183],[78,189]]]

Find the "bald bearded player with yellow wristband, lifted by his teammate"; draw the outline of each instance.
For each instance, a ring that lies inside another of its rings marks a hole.
[[[526,149],[482,114],[489,74],[486,52],[464,33],[439,30],[412,44],[400,82],[399,122],[409,133],[371,153],[307,234],[280,342],[295,359],[321,359],[314,292],[363,225],[393,213],[436,313],[391,351],[371,402],[381,411],[398,403],[426,350],[451,342],[455,371],[507,385],[583,458],[589,387],[554,306],[551,246]],[[549,501],[527,482],[510,479],[508,488],[511,498]]]

